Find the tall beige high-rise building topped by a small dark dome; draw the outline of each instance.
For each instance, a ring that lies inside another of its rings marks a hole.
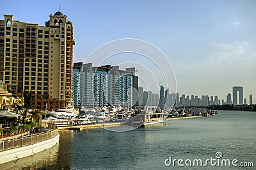
[[[0,80],[13,95],[31,90],[36,105],[58,109],[72,104],[73,25],[60,11],[45,26],[0,20]]]

